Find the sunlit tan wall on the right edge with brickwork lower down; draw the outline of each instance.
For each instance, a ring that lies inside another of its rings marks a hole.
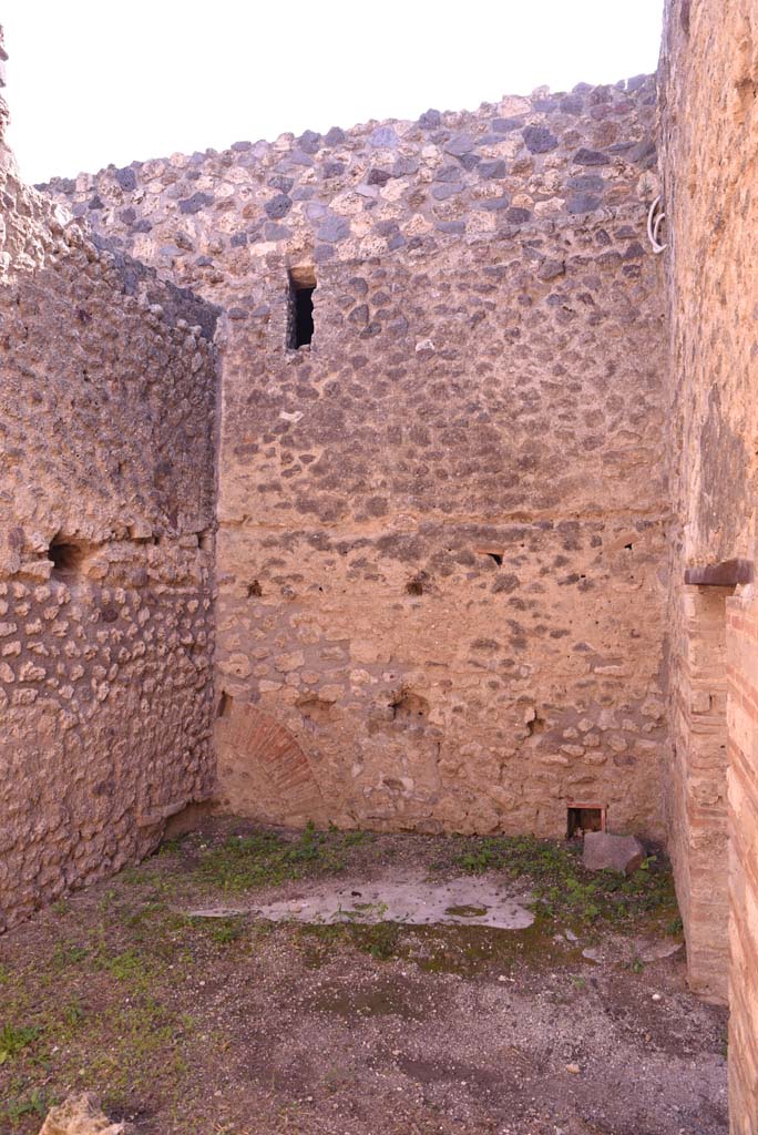
[[[672,612],[675,731],[672,851],[697,987],[723,991],[730,917],[731,1110],[758,1130],[758,653],[755,585],[706,598],[684,569],[757,552],[758,22],[751,0],[669,0],[660,72],[665,253],[672,325],[674,502]],[[709,613],[704,605],[708,605]],[[725,644],[713,649],[714,609]],[[708,641],[709,640],[709,641]],[[710,656],[710,657],[708,657]],[[688,657],[702,661],[696,674]],[[708,670],[710,674],[708,675]],[[726,714],[722,707],[727,679]],[[700,714],[717,745],[702,741]],[[715,717],[722,718],[716,725]],[[710,722],[708,722],[710,718]],[[725,725],[725,729],[724,729]],[[700,732],[699,743],[694,735]],[[728,738],[728,762],[716,751]],[[725,783],[724,771],[728,764]],[[725,822],[724,800],[728,797]],[[730,851],[727,857],[727,835]],[[689,864],[689,866],[688,866]],[[688,881],[689,876],[689,881]],[[713,902],[713,906],[711,906]],[[694,944],[694,949],[693,949]]]

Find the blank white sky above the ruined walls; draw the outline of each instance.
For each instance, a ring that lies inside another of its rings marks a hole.
[[[663,0],[3,0],[28,182],[655,70]]]

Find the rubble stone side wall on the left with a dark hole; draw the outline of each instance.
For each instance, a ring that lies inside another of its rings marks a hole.
[[[213,789],[217,390],[209,305],[1,153],[0,930]]]

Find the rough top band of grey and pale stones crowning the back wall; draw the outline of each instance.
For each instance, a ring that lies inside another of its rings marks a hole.
[[[589,222],[643,236],[655,108],[651,76],[540,87],[475,111],[236,142],[40,188],[165,278],[239,311],[250,281],[283,262],[328,275],[513,239],[537,270],[559,274],[539,252],[558,229],[578,234],[570,254]]]

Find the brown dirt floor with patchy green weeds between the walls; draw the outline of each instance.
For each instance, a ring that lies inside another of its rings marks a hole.
[[[409,872],[536,920],[255,915]],[[140,1135],[723,1135],[725,1012],[680,943],[660,856],[624,881],[567,844],[216,821],[0,938],[0,1132],[90,1088]]]

